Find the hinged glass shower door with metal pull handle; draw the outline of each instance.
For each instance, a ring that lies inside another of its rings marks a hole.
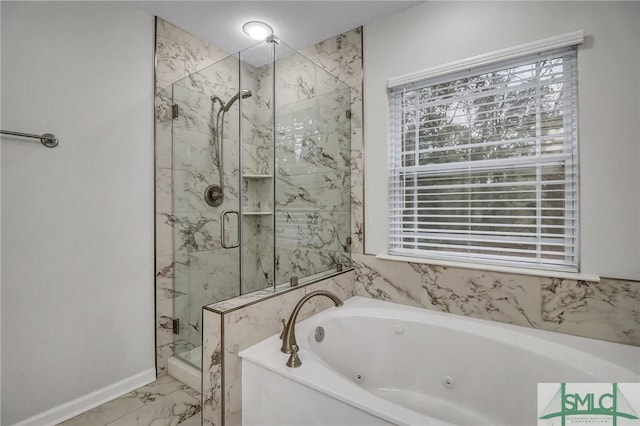
[[[202,306],[240,293],[239,83],[233,55],[172,88],[174,353],[197,368]]]

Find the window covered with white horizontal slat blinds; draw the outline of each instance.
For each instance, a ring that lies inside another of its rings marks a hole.
[[[389,254],[576,271],[576,49],[389,89]]]

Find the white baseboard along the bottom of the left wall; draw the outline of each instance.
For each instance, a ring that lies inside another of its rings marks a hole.
[[[53,426],[82,414],[92,408],[109,402],[156,379],[155,368],[150,368],[135,376],[128,377],[117,383],[81,396],[73,401],[58,405],[35,416],[29,417],[13,426]]]

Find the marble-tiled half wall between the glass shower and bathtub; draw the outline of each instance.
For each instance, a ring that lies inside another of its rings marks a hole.
[[[354,271],[288,291],[256,292],[207,306],[203,310],[203,425],[240,425],[242,411],[242,362],[238,353],[281,331],[297,301],[319,289],[345,300],[353,296]],[[264,293],[264,294],[261,294]],[[309,300],[298,320],[333,306],[325,298]],[[304,357],[304,354],[300,354]],[[277,397],[277,396],[274,396]]]

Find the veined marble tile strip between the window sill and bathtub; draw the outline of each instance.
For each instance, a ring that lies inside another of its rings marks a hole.
[[[452,314],[640,345],[640,282],[599,283],[354,255],[355,293]]]

